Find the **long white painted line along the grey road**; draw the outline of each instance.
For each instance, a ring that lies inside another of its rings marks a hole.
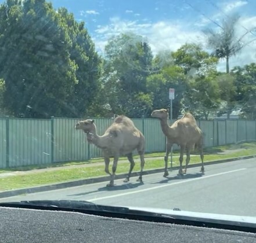
[[[221,173],[214,174],[214,175],[206,175],[206,176],[203,176],[203,177],[200,177],[200,178],[187,179],[186,181],[179,181],[179,182],[174,182],[174,183],[165,184],[165,185],[161,185],[161,186],[154,186],[154,187],[150,187],[150,188],[146,188],[146,189],[136,190],[134,192],[127,192],[127,193],[120,193],[120,194],[115,194],[115,195],[111,195],[111,196],[106,196],[106,197],[92,198],[92,199],[88,199],[86,201],[98,201],[98,200],[103,200],[103,199],[108,199],[108,198],[113,198],[113,197],[127,196],[129,194],[147,192],[147,191],[159,189],[159,188],[162,188],[162,187],[174,186],[174,185],[178,185],[178,184],[182,184],[182,183],[186,183],[186,182],[197,181],[197,180],[200,180],[200,179],[206,179],[206,178],[210,178],[210,177],[213,177],[213,176],[225,175],[225,174],[229,174],[229,173],[233,173],[233,172],[237,172],[237,171],[243,171],[243,170],[246,170],[246,168],[241,168],[241,169],[233,170],[233,171],[221,172]]]

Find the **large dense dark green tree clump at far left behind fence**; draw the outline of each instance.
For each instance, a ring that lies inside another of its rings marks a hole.
[[[0,6],[0,32],[6,108],[15,116],[38,118],[86,111],[99,58],[83,23],[45,0],[9,0]]]

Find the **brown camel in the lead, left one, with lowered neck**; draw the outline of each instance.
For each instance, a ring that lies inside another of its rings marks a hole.
[[[130,162],[129,172],[124,182],[129,181],[135,165],[132,157],[132,151],[135,149],[138,150],[140,156],[140,175],[137,181],[142,182],[142,172],[145,164],[145,138],[131,119],[123,115],[117,116],[113,124],[107,128],[102,136],[97,134],[96,125],[94,120],[91,119],[79,121],[75,128],[83,130],[86,133],[88,142],[103,150],[105,172],[110,175],[110,183],[107,186],[114,186],[117,162],[121,155],[127,156]],[[112,174],[109,172],[110,157],[114,157]]]

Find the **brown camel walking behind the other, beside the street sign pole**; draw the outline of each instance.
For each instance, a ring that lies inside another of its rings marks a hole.
[[[201,172],[204,172],[204,154],[203,154],[203,132],[196,124],[196,119],[190,114],[186,113],[181,119],[176,120],[171,126],[168,125],[168,111],[167,109],[154,110],[152,117],[160,119],[161,128],[164,135],[167,137],[166,153],[164,157],[165,170],[164,176],[168,176],[167,163],[172,145],[176,143],[181,148],[179,156],[179,174],[186,174],[187,167],[190,160],[190,152],[197,148],[200,152],[202,167]],[[185,170],[182,170],[183,154],[186,149],[186,165]]]

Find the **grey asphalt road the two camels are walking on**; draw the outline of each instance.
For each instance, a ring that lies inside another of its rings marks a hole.
[[[42,193],[1,198],[20,200],[86,200],[98,204],[133,207],[179,208],[183,211],[256,216],[256,159],[246,159],[189,168],[188,174],[177,176],[171,171],[145,175],[143,183],[135,177],[124,183],[117,180],[114,187],[106,182],[69,187]]]

